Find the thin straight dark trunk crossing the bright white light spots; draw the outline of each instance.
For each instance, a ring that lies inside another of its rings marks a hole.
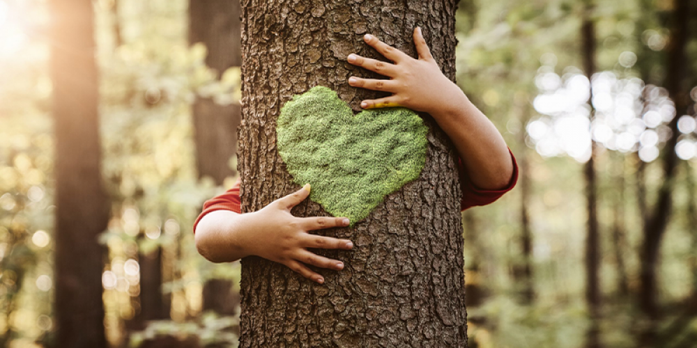
[[[583,40],[583,68],[588,75],[588,80],[592,79],[595,73],[595,23],[591,18],[593,5],[591,0],[587,0],[583,24],[581,25],[581,38]],[[592,100],[592,89],[591,89]],[[590,120],[592,121],[595,109],[590,104]],[[601,347],[599,338],[599,317],[600,317],[600,279],[598,276],[600,268],[600,236],[598,230],[597,216],[597,184],[595,175],[595,141],[591,141],[591,155],[585,163],[583,177],[585,178],[585,197],[586,208],[588,209],[588,235],[585,239],[585,300],[588,305],[590,315],[590,328],[586,338],[585,347]]]

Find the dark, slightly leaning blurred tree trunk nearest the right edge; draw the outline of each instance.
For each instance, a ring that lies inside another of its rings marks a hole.
[[[656,267],[658,264],[661,239],[663,238],[673,205],[673,186],[677,155],[675,144],[680,132],[677,120],[687,111],[689,87],[687,82],[687,60],[685,45],[687,43],[687,23],[689,21],[689,0],[676,0],[671,21],[671,38],[668,40],[668,61],[666,74],[666,89],[673,102],[677,116],[671,120],[671,137],[666,142],[663,155],[664,177],[659,189],[657,202],[648,215],[648,221],[643,230],[643,246],[641,254],[641,294],[640,306],[651,319],[659,317],[657,304]]]

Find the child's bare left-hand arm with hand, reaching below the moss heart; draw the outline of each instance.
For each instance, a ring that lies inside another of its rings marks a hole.
[[[305,278],[323,283],[319,274],[305,264],[341,270],[344,263],[316,255],[306,248],[353,248],[351,241],[311,235],[308,231],[348,226],[347,218],[299,218],[291,208],[309,196],[309,184],[300,191],[279,198],[258,212],[237,214],[229,210],[209,212],[195,230],[196,248],[212,262],[230,262],[257,255],[285,264]]]

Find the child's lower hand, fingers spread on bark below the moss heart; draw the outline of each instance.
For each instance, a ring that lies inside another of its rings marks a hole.
[[[311,235],[311,230],[348,226],[344,217],[309,217],[299,218],[291,214],[291,208],[309,196],[309,184],[295,193],[279,198],[258,212],[254,212],[250,231],[245,233],[243,242],[247,251],[271,261],[285,264],[293,271],[308,279],[323,283],[324,278],[310,270],[305,264],[316,267],[335,269],[344,268],[344,263],[316,255],[307,248],[344,249],[353,248],[353,243],[346,239],[336,239]],[[252,216],[250,216],[251,218]]]

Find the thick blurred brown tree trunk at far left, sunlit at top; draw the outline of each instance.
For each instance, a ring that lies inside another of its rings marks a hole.
[[[106,347],[103,248],[109,200],[102,187],[98,76],[89,0],[49,1],[56,132],[56,347]]]

